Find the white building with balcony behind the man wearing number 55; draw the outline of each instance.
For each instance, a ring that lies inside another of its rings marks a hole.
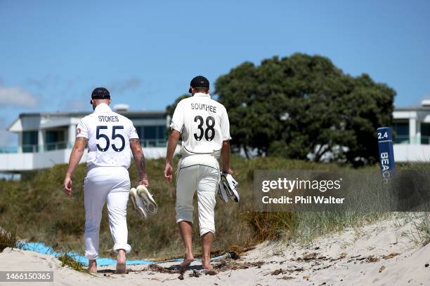
[[[165,111],[122,111],[133,121],[146,158],[166,156]],[[80,119],[89,112],[20,114],[8,127],[18,134],[18,146],[0,147],[0,172],[20,172],[67,163]],[[82,163],[86,161],[86,152]]]

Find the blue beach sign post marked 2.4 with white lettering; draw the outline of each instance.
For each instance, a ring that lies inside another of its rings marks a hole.
[[[385,182],[394,175],[393,133],[389,127],[377,129],[379,147],[379,167]]]

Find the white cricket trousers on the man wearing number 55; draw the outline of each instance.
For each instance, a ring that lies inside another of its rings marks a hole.
[[[84,182],[85,257],[98,258],[98,238],[103,205],[107,202],[107,218],[114,240],[113,250],[125,250],[127,243],[126,207],[129,200],[129,172],[122,167],[97,167],[89,170]]]

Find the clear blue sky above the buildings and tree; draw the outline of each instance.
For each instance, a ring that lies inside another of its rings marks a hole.
[[[18,114],[113,103],[164,109],[190,79],[245,61],[318,54],[387,83],[397,106],[430,95],[430,1],[0,0],[0,145]]]

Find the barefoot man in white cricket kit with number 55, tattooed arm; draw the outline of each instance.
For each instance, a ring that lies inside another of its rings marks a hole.
[[[85,257],[89,259],[89,271],[97,272],[98,237],[103,205],[107,201],[110,233],[117,252],[117,273],[126,271],[127,243],[126,207],[129,200],[131,153],[139,172],[139,185],[148,186],[145,157],[136,129],[126,117],[113,112],[110,93],[106,88],[96,88],[90,103],[94,112],[82,118],[70,154],[69,168],[63,189],[72,195],[72,174],[84,154],[88,143],[88,172],[84,180],[85,205]]]

